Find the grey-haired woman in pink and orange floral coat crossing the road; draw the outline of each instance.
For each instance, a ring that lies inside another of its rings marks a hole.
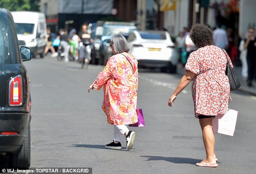
[[[107,123],[114,126],[114,139],[105,148],[122,149],[120,141],[125,135],[126,149],[130,150],[135,132],[130,131],[126,125],[138,122],[138,61],[128,53],[130,48],[123,35],[112,36],[110,47],[114,55],[109,58],[104,70],[89,86],[88,92],[104,86],[102,109],[107,115]]]

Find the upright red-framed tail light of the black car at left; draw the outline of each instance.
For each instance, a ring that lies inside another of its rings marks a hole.
[[[9,83],[9,105],[22,105],[22,79],[21,75],[16,76],[10,80]]]

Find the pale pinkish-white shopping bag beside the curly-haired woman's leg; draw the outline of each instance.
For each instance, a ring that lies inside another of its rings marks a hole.
[[[229,109],[226,114],[218,114],[212,120],[212,130],[216,133],[234,135],[238,111]]]

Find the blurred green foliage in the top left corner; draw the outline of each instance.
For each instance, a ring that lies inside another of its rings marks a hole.
[[[9,11],[39,11],[40,0],[0,0],[0,8]]]

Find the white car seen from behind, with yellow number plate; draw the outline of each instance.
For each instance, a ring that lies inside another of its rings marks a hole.
[[[175,73],[178,52],[166,31],[132,31],[127,39],[130,51],[139,67],[161,68]]]

